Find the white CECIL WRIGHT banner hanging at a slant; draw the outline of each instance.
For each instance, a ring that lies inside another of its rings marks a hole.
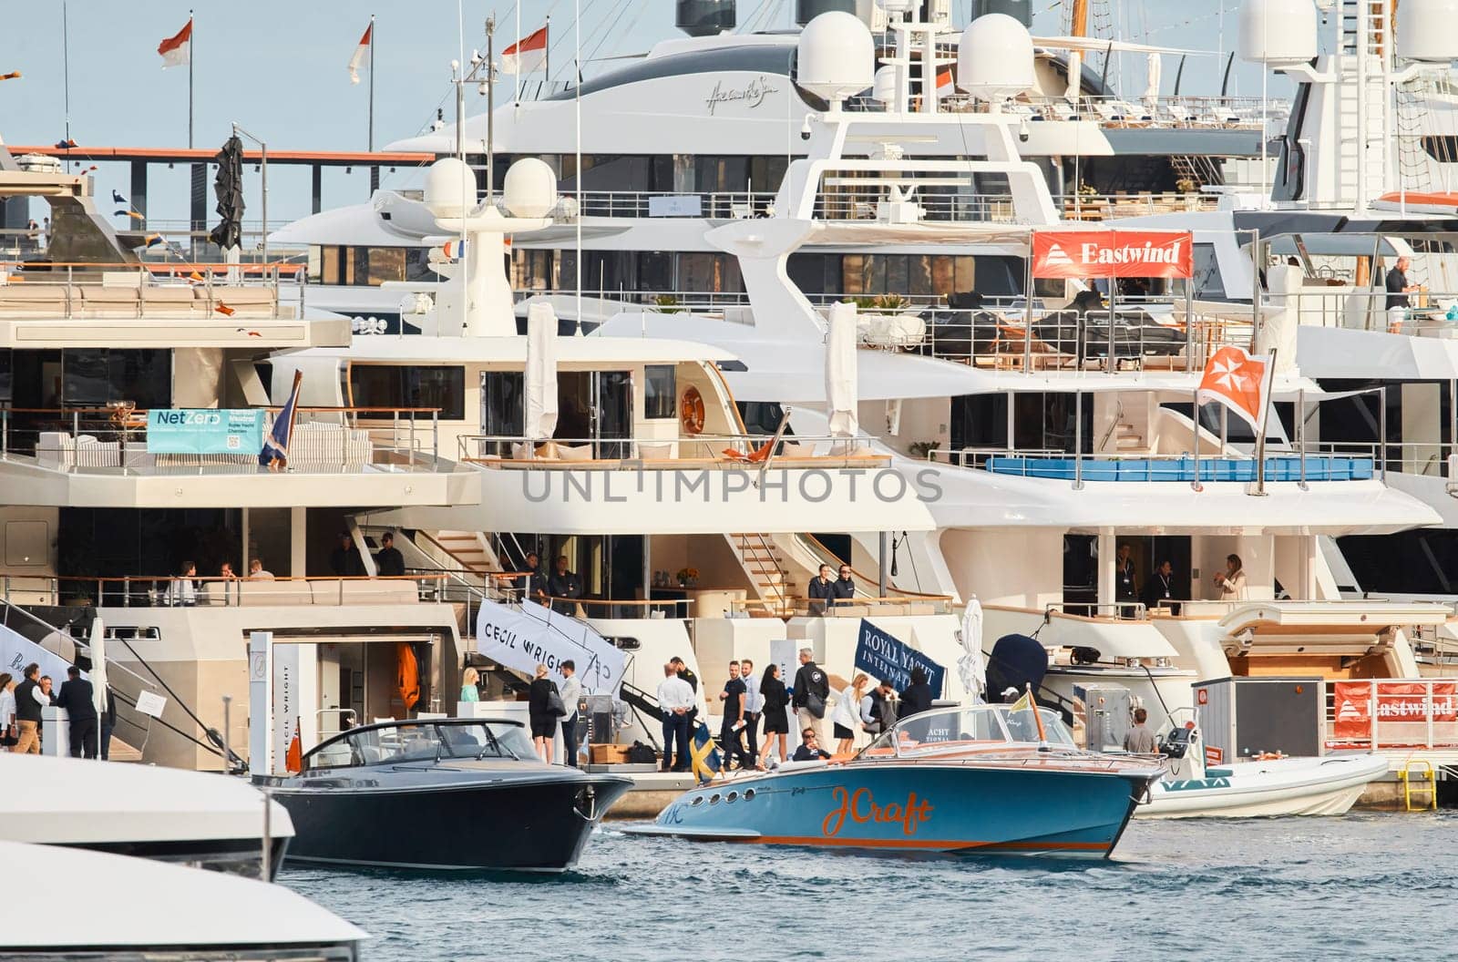
[[[475,619],[475,650],[528,678],[545,665],[561,688],[561,663],[577,666],[577,681],[588,695],[618,694],[623,682],[623,650],[572,618],[532,602],[521,606],[483,602]]]

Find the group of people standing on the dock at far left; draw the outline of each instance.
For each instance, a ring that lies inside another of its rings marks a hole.
[[[0,748],[20,755],[41,754],[42,711],[48,705],[66,708],[67,736],[71,758],[111,758],[111,732],[117,727],[117,703],[106,700],[106,710],[96,713],[95,689],[82,678],[82,669],[71,665],[66,681],[54,691],[50,675],[31,662],[17,682],[9,672],[0,672]]]

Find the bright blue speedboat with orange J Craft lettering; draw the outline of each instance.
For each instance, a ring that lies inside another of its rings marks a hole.
[[[1105,857],[1163,767],[1080,751],[1057,714],[1040,714],[974,705],[911,716],[854,758],[714,780],[685,793],[656,824],[624,831],[881,851]]]

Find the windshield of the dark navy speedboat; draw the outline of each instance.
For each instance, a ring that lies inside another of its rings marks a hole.
[[[303,768],[353,768],[439,758],[535,758],[519,724],[402,722],[346,732],[309,752]]]

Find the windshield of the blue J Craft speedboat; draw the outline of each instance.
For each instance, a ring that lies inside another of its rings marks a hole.
[[[923,711],[897,722],[866,748],[866,754],[917,758],[1005,745],[1038,745],[1040,740],[1057,748],[1075,748],[1073,733],[1056,711],[1038,708],[1038,716],[1042,719],[1042,739],[1038,738],[1038,719],[1031,708],[970,705]]]

